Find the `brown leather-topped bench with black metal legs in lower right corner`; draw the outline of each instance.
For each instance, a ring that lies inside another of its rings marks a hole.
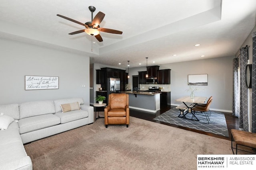
[[[242,145],[245,147],[250,147],[252,149],[256,149],[256,133],[252,133],[252,132],[246,132],[246,131],[240,131],[240,130],[236,130],[236,129],[231,129],[231,149],[232,152],[234,154],[234,150],[236,149],[236,154],[237,154],[237,150],[241,150],[241,149],[237,149],[237,145]],[[234,142],[236,143],[236,147],[233,147],[233,139]],[[248,152],[246,150],[242,150],[245,152]],[[253,153],[255,154],[255,152],[249,152],[249,153]]]

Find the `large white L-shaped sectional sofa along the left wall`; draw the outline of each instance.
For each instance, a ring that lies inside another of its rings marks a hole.
[[[76,102],[78,108],[62,113],[60,105]],[[0,113],[15,120],[0,131],[0,170],[32,170],[23,144],[94,122],[94,109],[82,98],[0,105]]]

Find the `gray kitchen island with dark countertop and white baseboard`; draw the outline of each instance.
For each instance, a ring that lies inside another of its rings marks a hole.
[[[129,108],[156,113],[160,110],[160,94],[158,92],[124,91],[129,94]]]

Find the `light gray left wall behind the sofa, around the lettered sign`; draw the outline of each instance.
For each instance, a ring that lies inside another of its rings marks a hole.
[[[0,105],[75,97],[89,104],[89,57],[7,39],[0,51]],[[25,90],[25,75],[58,76],[59,89]]]

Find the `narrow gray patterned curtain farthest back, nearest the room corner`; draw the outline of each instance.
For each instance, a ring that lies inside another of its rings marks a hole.
[[[233,106],[232,115],[239,117],[238,59],[233,59]]]

